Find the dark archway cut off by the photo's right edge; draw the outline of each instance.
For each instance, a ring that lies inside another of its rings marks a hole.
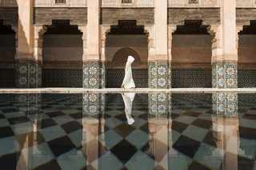
[[[238,33],[238,88],[256,87],[256,22]]]

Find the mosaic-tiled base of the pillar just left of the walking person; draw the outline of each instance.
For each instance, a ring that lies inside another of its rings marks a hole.
[[[86,61],[82,66],[82,86],[85,89],[105,88],[105,63]]]

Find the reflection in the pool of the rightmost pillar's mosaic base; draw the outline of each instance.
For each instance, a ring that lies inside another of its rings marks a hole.
[[[219,116],[238,116],[238,93],[214,93],[213,111]]]

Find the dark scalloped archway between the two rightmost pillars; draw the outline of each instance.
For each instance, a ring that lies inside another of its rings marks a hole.
[[[212,37],[202,21],[177,26],[172,40],[172,88],[210,88]]]

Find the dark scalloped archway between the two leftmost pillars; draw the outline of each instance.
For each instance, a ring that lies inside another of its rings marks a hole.
[[[42,45],[42,87],[82,87],[82,33],[69,21],[47,26]]]

